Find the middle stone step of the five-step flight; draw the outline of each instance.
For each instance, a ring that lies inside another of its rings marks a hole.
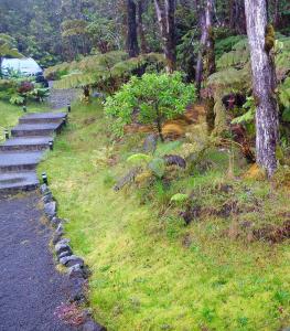
[[[45,150],[53,141],[52,137],[22,137],[11,138],[0,145],[0,151],[39,151]]]

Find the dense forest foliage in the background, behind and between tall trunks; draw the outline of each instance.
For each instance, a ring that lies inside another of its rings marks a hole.
[[[136,2],[138,7],[141,3],[140,15],[146,41],[143,49],[160,52],[161,39],[153,1]],[[245,33],[245,29],[237,26],[240,21],[240,25],[244,23],[243,17],[234,15],[235,2],[237,1],[232,1],[229,6],[228,1],[216,1],[217,40],[232,34],[235,39],[236,34]],[[284,34],[289,33],[289,2],[280,0],[278,12],[275,7],[277,1],[269,2],[270,17],[276,21],[277,28]],[[196,61],[194,49],[196,38],[198,39],[198,12],[194,3],[195,1],[189,0],[176,1],[176,41],[183,67]],[[39,60],[44,66],[58,61],[72,61],[95,50],[104,53],[126,47],[126,1],[1,0],[0,8],[0,32],[14,38],[20,52]],[[217,42],[217,53],[222,55],[223,45]]]

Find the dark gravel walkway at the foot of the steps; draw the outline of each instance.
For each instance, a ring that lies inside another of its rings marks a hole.
[[[0,197],[0,330],[72,330],[54,317],[66,301],[64,277],[49,249],[36,193]]]

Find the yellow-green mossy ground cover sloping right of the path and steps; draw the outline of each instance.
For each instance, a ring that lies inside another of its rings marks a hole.
[[[115,192],[142,136],[112,143],[97,104],[76,105],[69,117],[39,171],[47,172],[73,248],[93,271],[89,299],[99,322],[108,330],[270,331],[290,324],[289,241],[256,241],[247,229],[249,223],[280,224],[290,212],[289,192],[230,179],[218,149],[208,152],[212,169],[170,185],[155,181]],[[184,206],[169,203],[176,192],[201,206],[187,226],[180,216]],[[226,204],[236,212],[224,213]]]

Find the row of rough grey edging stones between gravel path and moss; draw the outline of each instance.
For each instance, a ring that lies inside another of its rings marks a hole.
[[[57,217],[56,201],[50,188],[46,184],[42,184],[40,188],[42,194],[42,202],[44,203],[44,212],[49,218],[51,225],[54,227],[54,234],[52,243],[54,245],[54,252],[57,257],[57,261],[67,268],[67,276],[71,285],[69,302],[82,305],[87,301],[86,288],[87,279],[89,276],[89,269],[85,265],[82,257],[73,254],[73,249],[69,246],[69,239],[64,237],[64,221]],[[84,324],[77,330],[82,331],[106,331],[107,329],[96,323],[90,313],[85,311],[86,316]]]

